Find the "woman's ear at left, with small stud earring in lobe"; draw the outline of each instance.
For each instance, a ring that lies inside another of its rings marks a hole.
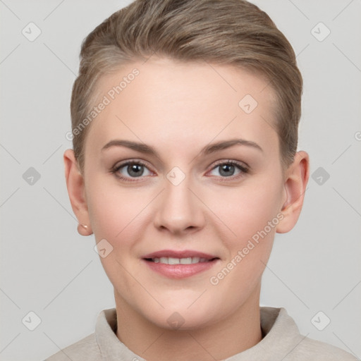
[[[68,188],[71,207],[79,221],[78,232],[81,235],[90,235],[92,234],[92,228],[90,226],[90,217],[85,197],[85,183],[78,167],[78,161],[75,159],[73,149],[66,149],[63,159],[66,188]]]

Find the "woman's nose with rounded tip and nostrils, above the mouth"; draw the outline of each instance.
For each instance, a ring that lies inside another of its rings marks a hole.
[[[160,231],[183,235],[199,231],[204,226],[205,206],[191,185],[189,176],[178,185],[164,179],[164,191],[157,200],[154,226]]]

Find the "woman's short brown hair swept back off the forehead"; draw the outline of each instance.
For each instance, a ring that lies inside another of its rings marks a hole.
[[[82,42],[71,97],[73,149],[83,171],[87,128],[74,132],[90,112],[97,81],[135,59],[233,65],[264,75],[273,87],[283,166],[298,145],[302,75],[295,53],[267,13],[245,0],[136,0],[113,13]]]

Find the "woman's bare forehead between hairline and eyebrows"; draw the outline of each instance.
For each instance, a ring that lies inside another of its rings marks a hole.
[[[153,56],[103,77],[102,106],[87,135],[100,147],[117,137],[160,146],[231,135],[275,142],[275,96],[267,80],[240,68]],[[276,140],[277,141],[277,140]]]

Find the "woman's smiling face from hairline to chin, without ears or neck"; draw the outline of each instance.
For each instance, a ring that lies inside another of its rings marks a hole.
[[[267,81],[152,57],[99,94],[109,104],[87,134],[85,197],[117,305],[165,328],[178,312],[192,329],[258,302],[285,200]]]

